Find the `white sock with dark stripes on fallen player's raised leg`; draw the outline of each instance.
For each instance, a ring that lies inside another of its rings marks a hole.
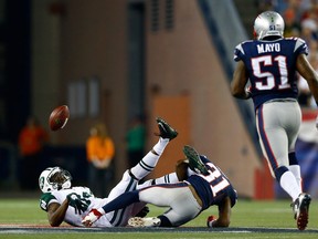
[[[150,174],[155,169],[168,143],[169,138],[160,137],[159,142],[153,146],[152,150],[150,150],[136,166],[130,169],[131,174],[137,179],[141,179]]]

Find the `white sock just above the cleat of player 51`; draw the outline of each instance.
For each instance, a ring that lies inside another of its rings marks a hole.
[[[279,185],[293,198],[293,201],[301,194],[301,189],[298,186],[294,174],[289,170],[282,175]]]

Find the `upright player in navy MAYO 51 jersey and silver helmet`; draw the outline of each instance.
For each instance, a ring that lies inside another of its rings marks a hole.
[[[237,65],[231,93],[237,98],[253,98],[263,154],[273,177],[292,197],[297,228],[304,230],[311,198],[303,191],[295,155],[301,123],[296,72],[307,81],[316,103],[318,76],[306,58],[306,42],[299,38],[284,38],[284,28],[283,18],[274,11],[265,11],[255,19],[256,39],[242,42],[234,51]]]

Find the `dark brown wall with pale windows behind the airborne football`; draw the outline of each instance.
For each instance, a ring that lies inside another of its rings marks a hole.
[[[89,127],[104,121],[116,144],[116,173],[120,176],[127,167],[127,1],[33,3],[34,111],[47,124],[51,111],[68,103],[70,85],[82,82],[87,86],[96,77],[100,86],[98,115],[89,116],[87,108],[76,115],[70,107],[67,125],[51,132],[51,142],[55,146],[85,147]]]

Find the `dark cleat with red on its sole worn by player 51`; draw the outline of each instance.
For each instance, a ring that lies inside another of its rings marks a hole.
[[[294,218],[299,230],[305,230],[307,227],[310,201],[310,195],[300,194],[298,198],[290,205],[293,207]]]

